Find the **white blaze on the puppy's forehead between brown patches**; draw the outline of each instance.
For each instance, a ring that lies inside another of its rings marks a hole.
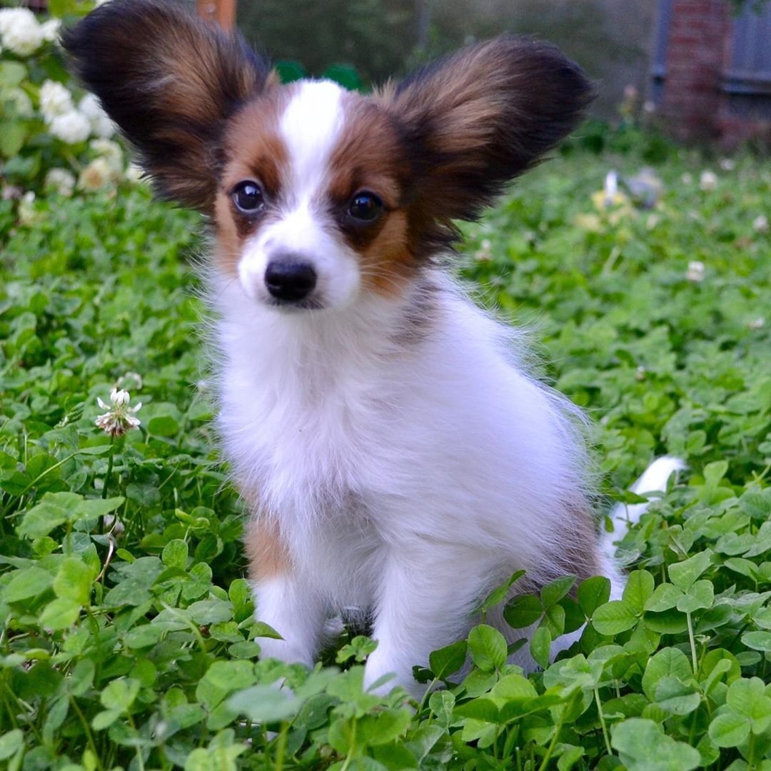
[[[321,186],[332,148],[342,130],[342,88],[329,80],[303,81],[281,116],[281,135],[289,151],[295,204],[307,204]]]

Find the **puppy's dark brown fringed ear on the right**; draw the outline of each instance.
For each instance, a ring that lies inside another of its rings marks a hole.
[[[457,236],[513,177],[574,128],[593,98],[581,68],[554,46],[502,35],[412,73],[378,99],[402,128],[416,178],[413,227],[423,246]]]

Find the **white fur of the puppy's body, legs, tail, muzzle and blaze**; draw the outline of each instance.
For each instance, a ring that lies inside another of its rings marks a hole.
[[[300,232],[288,227],[295,209],[270,231],[273,249],[304,244],[330,287],[348,281],[351,267],[342,239],[311,248],[329,232],[314,196],[325,178],[318,159],[344,121],[320,105],[336,98],[328,86],[304,86],[288,107],[295,200],[309,219]],[[325,116],[321,150],[308,123],[313,106]],[[354,281],[344,300],[322,288],[330,300],[322,311],[281,311],[254,290],[260,248],[244,250],[250,267],[240,281],[215,274],[210,297],[226,453],[241,485],[280,522],[293,562],[254,586],[259,618],[284,637],[261,639],[263,654],[310,664],[330,614],[374,608],[379,645],[366,683],[394,672],[419,692],[412,665],[466,632],[481,594],[519,567],[535,584],[554,577],[550,555],[586,479],[575,410],[527,375],[511,330],[441,271],[424,271],[421,285],[397,297]],[[416,336],[408,320],[426,285],[431,318]],[[642,487],[662,481],[657,472]]]

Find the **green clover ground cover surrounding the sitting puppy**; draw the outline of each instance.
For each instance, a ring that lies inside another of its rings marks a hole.
[[[690,470],[622,544],[621,601],[567,577],[507,605],[540,621],[543,672],[480,625],[419,672],[446,684],[419,705],[362,692],[352,633],[314,672],[259,658],[196,218],[126,183],[22,221],[0,202],[0,765],[771,769],[771,167],[670,153],[644,210],[593,195],[612,163],[641,160],[574,147],[523,180],[467,229],[463,275],[588,410],[608,500],[657,453]],[[116,385],[142,425],[111,439],[96,400]]]

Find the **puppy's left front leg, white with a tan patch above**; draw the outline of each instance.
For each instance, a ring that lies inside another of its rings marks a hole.
[[[277,524],[252,520],[245,540],[256,617],[283,638],[259,638],[261,657],[312,667],[325,620],[322,598],[292,564]]]

